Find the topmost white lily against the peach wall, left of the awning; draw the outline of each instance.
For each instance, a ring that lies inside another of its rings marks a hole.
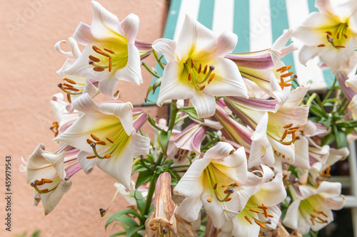
[[[63,73],[99,81],[101,93],[114,98],[118,92],[113,95],[113,90],[119,80],[143,83],[141,53],[135,46],[139,17],[130,14],[120,22],[98,2],[91,4],[94,11],[91,26],[80,23],[73,36],[86,48]]]

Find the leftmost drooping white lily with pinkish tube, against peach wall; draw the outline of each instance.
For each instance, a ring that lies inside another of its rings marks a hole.
[[[59,154],[56,154],[47,152],[44,144],[39,144],[26,164],[26,181],[35,189],[34,205],[37,206],[42,201],[45,215],[71,189],[72,181],[69,178],[81,169],[76,159],[79,150],[71,149],[66,152],[65,148],[66,146],[62,146],[56,151]]]

